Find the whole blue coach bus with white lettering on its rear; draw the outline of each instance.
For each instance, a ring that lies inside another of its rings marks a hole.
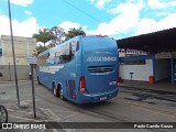
[[[117,42],[101,35],[78,35],[37,57],[38,84],[76,103],[99,102],[118,95]]]

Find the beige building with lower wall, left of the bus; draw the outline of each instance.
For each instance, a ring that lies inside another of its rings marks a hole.
[[[18,79],[29,79],[30,66],[26,62],[28,56],[35,53],[36,40],[32,37],[14,36],[14,53]],[[0,38],[0,80],[14,80],[13,54],[11,36],[2,35]]]

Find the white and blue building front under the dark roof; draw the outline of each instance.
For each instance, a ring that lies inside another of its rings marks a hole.
[[[170,64],[170,55],[173,64]],[[172,73],[176,73],[176,64],[174,62],[176,62],[175,52],[155,55],[140,55],[136,53],[121,54],[120,77],[127,80],[140,81],[150,81],[151,77],[153,77],[154,81],[164,80],[170,78],[173,76]],[[174,69],[174,72],[170,69]]]

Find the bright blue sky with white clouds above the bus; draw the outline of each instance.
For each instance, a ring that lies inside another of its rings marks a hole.
[[[10,0],[14,36],[81,26],[116,40],[176,28],[176,0]],[[8,0],[0,0],[0,36],[10,35]]]

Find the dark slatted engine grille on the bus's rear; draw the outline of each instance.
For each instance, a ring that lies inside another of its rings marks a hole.
[[[108,66],[88,66],[88,72],[91,74],[108,74],[114,70],[113,65]]]

